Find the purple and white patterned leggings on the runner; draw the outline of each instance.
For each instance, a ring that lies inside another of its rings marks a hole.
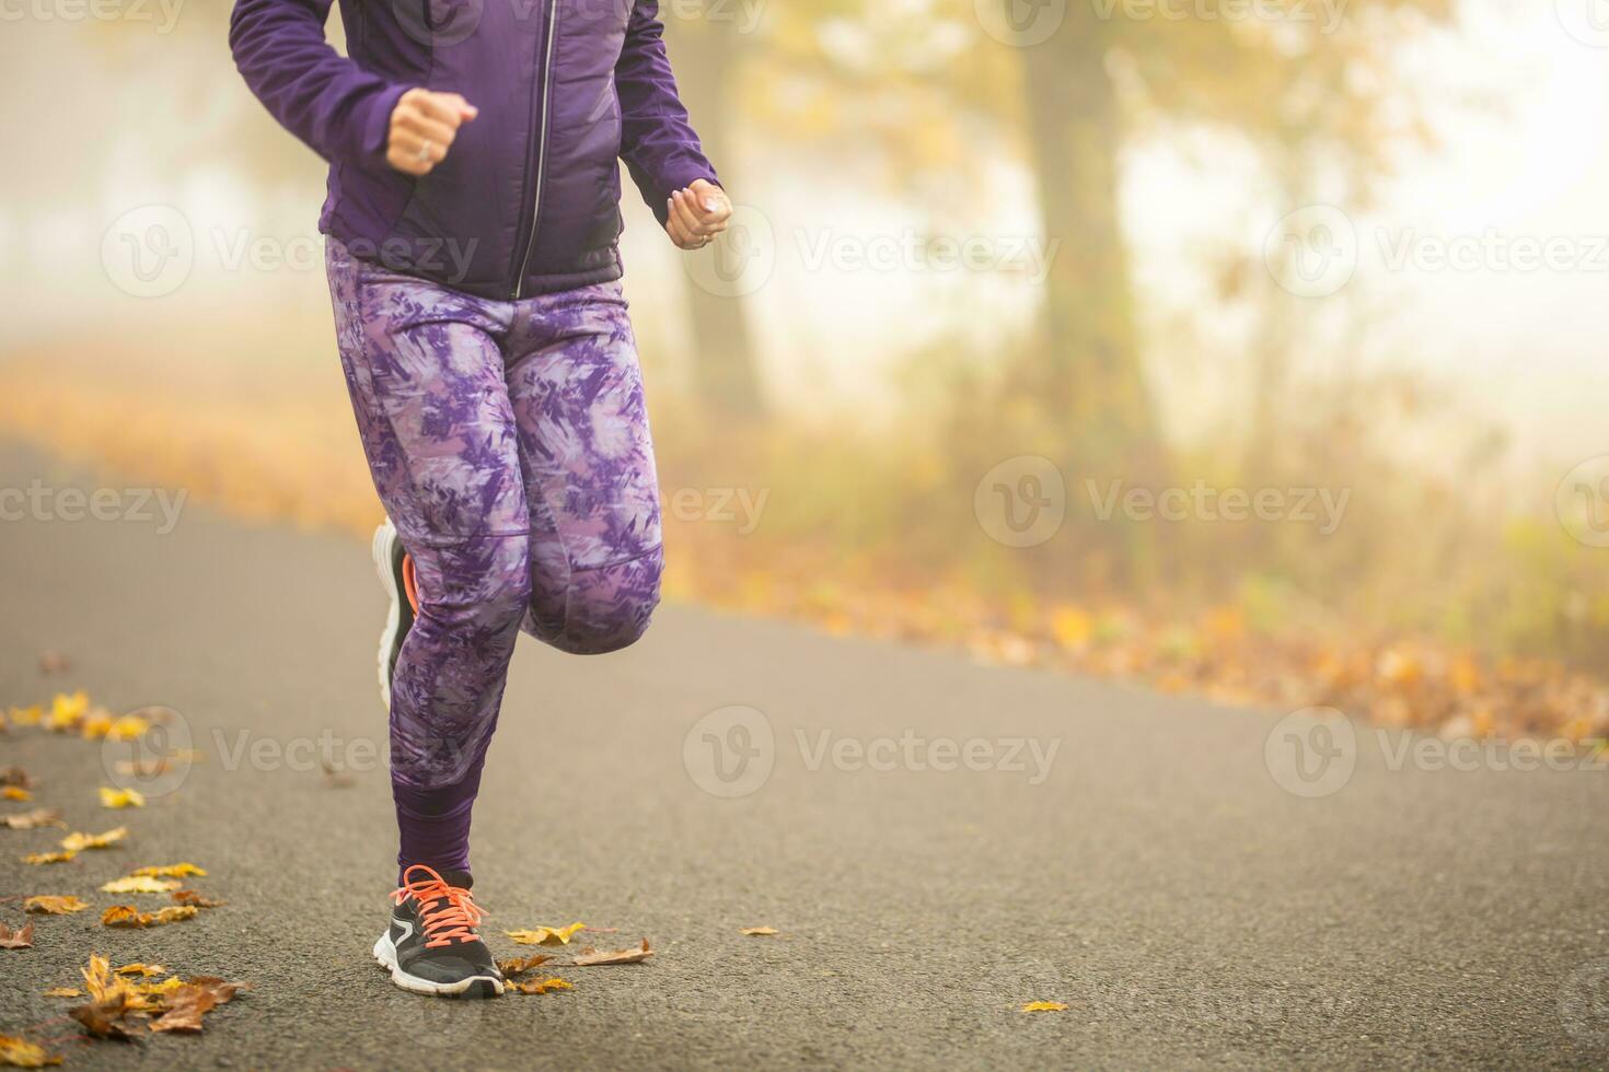
[[[414,558],[391,688],[401,866],[468,871],[470,812],[521,628],[624,648],[663,548],[642,373],[618,283],[462,294],[330,239],[336,339],[368,468]]]

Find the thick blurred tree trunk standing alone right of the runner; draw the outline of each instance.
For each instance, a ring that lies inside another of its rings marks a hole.
[[[1046,354],[1030,384],[1075,423],[1081,455],[1121,463],[1158,444],[1118,220],[1123,132],[1105,34],[1093,5],[1072,3],[1051,40],[1023,50],[1044,238],[1060,243],[1041,313]]]

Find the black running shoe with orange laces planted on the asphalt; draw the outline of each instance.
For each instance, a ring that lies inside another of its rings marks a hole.
[[[442,878],[425,865],[402,874],[402,889],[391,895],[391,926],[375,942],[375,959],[391,982],[442,998],[502,995],[502,972],[475,931],[484,913],[468,886],[467,874]]]

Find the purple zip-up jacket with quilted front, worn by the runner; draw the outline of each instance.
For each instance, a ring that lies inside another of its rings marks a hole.
[[[618,280],[619,167],[648,207],[714,169],[665,55],[658,0],[237,0],[230,48],[251,92],[330,161],[319,228],[356,254],[481,297]],[[414,87],[479,117],[425,178],[385,161]]]

